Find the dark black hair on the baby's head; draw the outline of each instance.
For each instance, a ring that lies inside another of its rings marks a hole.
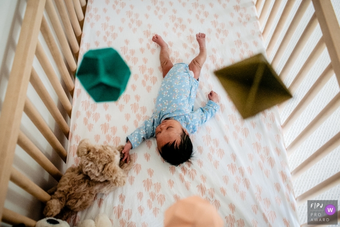
[[[190,162],[192,158],[192,142],[189,135],[182,129],[181,141],[176,144],[176,140],[165,144],[159,154],[171,165],[178,166],[184,162]]]

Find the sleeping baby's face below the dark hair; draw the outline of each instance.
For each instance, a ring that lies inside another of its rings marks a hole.
[[[155,136],[157,141],[157,148],[161,148],[168,142],[180,142],[182,134],[182,125],[176,120],[164,120],[160,123],[155,130]]]

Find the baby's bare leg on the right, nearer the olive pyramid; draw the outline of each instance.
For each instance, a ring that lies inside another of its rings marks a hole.
[[[194,78],[198,80],[198,78],[200,77],[201,69],[206,59],[205,34],[196,34],[196,39],[198,45],[200,46],[200,53],[190,62],[189,70],[194,72]]]

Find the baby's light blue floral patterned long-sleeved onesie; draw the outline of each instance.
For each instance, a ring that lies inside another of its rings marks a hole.
[[[154,137],[156,127],[165,119],[180,122],[189,134],[193,134],[201,124],[214,116],[220,106],[211,100],[193,111],[197,87],[198,81],[190,75],[188,65],[175,64],[159,88],[153,115],[127,137],[132,148]]]

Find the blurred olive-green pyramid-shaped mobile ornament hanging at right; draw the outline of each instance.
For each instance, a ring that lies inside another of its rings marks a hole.
[[[244,119],[292,97],[261,53],[214,73]]]

